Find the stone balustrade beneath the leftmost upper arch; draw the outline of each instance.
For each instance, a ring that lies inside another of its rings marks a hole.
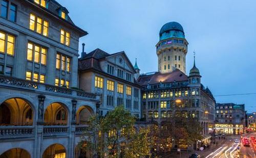
[[[10,137],[32,137],[34,126],[0,126],[0,139]]]

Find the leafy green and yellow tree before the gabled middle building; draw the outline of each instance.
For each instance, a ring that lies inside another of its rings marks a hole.
[[[105,117],[92,116],[80,144],[94,157],[143,157],[150,155],[148,130],[136,132],[136,119],[123,106],[116,107]]]

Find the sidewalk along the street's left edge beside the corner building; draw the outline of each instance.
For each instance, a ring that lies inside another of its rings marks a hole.
[[[171,153],[169,153],[166,156],[163,157],[182,157],[182,158],[186,158],[189,157],[191,154],[193,153],[198,153],[201,155],[201,157],[206,157],[207,155],[209,155],[211,152],[215,151],[216,149],[218,149],[219,147],[221,147],[223,144],[225,144],[227,141],[229,141],[230,139],[233,139],[232,137],[226,137],[226,139],[221,139],[219,140],[219,138],[215,140],[215,144],[211,144],[209,147],[207,147],[206,149],[204,149],[203,151],[199,151],[199,150],[195,150],[195,151],[186,151],[186,150],[182,150],[181,151],[181,156],[180,154],[177,154],[176,150],[172,150]]]

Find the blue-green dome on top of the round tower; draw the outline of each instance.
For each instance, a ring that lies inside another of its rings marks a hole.
[[[178,22],[168,22],[163,25],[159,32],[160,40],[172,37],[185,38],[183,28]]]

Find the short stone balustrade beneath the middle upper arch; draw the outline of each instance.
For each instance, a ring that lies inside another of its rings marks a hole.
[[[44,126],[44,135],[68,134],[68,126]]]

